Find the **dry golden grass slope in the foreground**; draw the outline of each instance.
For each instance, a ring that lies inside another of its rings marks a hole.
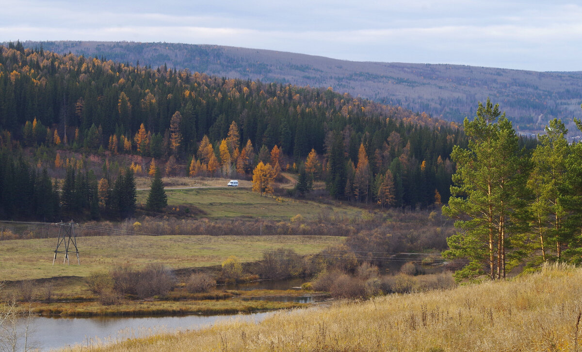
[[[582,270],[554,266],[513,281],[336,302],[90,350],[576,351],[581,297]]]

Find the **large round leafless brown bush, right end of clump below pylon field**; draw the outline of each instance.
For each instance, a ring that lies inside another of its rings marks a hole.
[[[176,286],[176,276],[163,264],[148,264],[139,274],[137,296],[165,296]]]

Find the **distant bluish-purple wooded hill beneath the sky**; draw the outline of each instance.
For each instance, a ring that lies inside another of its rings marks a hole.
[[[24,42],[24,47],[117,62],[167,65],[226,78],[333,87],[433,117],[460,122],[491,97],[520,133],[543,131],[552,118],[581,117],[582,72],[534,72],[463,65],[354,62],[290,52],[171,43]],[[569,128],[574,131],[573,124]]]

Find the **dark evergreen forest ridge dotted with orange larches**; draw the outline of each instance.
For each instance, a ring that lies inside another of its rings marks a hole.
[[[250,174],[260,161],[273,162],[276,149],[281,170],[299,171],[311,154],[310,165],[317,161],[311,177],[326,181],[338,199],[375,203],[375,186],[389,171],[394,198],[386,205],[397,207],[446,202],[450,152],[466,144],[450,122],[332,89],[63,56],[20,43],[0,47],[0,128],[3,160],[28,165],[35,175],[61,168],[113,186],[118,170],[109,170],[110,163],[120,154],[139,154],[142,165],[132,165],[132,173],[145,174],[155,162],[168,175],[234,177]],[[21,147],[33,153],[14,161]],[[65,160],[70,152],[76,160]],[[91,167],[91,154],[102,156],[105,166]],[[5,195],[11,185],[2,177]],[[97,211],[91,199],[87,211],[91,202]]]

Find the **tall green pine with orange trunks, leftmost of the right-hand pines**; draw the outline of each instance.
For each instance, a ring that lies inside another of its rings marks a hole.
[[[499,115],[498,104],[494,106],[489,99],[485,106],[479,103],[474,121],[464,121],[469,146],[455,146],[451,154],[457,163],[455,185],[449,205],[442,210],[457,220],[459,230],[448,238],[450,249],[443,255],[469,259],[455,273],[457,279],[484,273],[492,280],[505,278],[506,249],[523,246],[519,237],[510,240],[509,234],[519,223],[517,201],[525,179],[519,175],[516,133],[505,114]]]

